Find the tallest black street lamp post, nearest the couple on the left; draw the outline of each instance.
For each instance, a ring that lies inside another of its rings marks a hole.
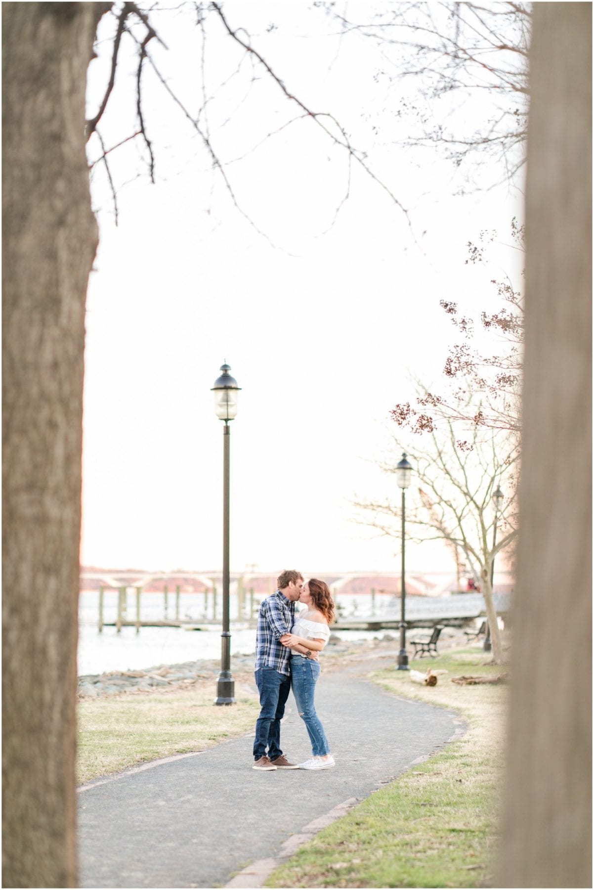
[[[237,415],[237,380],[221,365],[222,374],[214,382],[216,414],[223,427],[223,629],[221,634],[221,673],[217,681],[215,705],[234,705],[235,681],[231,674],[231,635],[229,633],[229,421]]]

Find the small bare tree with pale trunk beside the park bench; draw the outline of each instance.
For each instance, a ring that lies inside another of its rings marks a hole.
[[[470,440],[459,441],[452,421],[429,433],[418,447],[406,447],[394,438],[389,457],[380,463],[382,473],[397,473],[397,460],[405,450],[413,465],[412,503],[406,509],[408,537],[416,542],[442,540],[470,565],[485,597],[486,615],[493,640],[493,660],[503,660],[491,586],[494,557],[508,548],[518,534],[516,488],[518,444],[510,436],[497,436],[474,428]],[[502,508],[496,512],[494,490],[504,489]],[[360,522],[385,535],[399,538],[400,507],[390,498],[383,501],[356,500]],[[494,544],[494,526],[499,536]]]

